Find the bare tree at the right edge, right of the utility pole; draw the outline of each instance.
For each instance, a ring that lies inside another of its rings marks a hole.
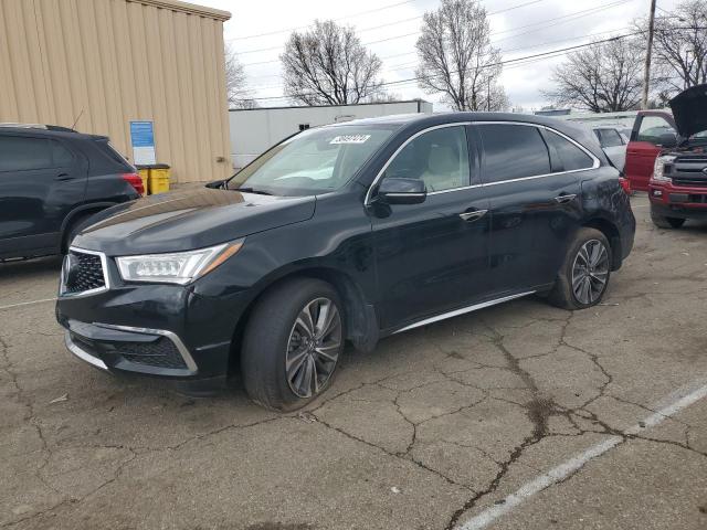
[[[707,83],[707,0],[684,1],[656,18],[653,56],[658,86],[673,95]]]

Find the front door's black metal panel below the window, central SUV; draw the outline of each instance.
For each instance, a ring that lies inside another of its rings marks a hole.
[[[487,214],[481,189],[435,193],[422,204],[377,204],[373,244],[382,328],[458,307],[488,283]]]

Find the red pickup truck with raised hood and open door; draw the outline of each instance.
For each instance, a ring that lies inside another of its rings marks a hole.
[[[631,189],[647,191],[656,226],[707,219],[707,84],[669,102],[673,114],[642,110],[626,148]]]

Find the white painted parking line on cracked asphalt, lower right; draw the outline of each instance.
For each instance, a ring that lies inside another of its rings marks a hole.
[[[629,427],[626,431],[624,431],[624,433],[629,435],[635,435],[648,427],[654,427],[661,424],[665,418],[671,417],[672,415],[704,398],[707,398],[707,384],[704,384],[699,389],[694,390],[690,393],[683,395],[682,398],[678,398],[671,404],[664,406],[663,409],[659,409],[654,414],[651,414],[648,417],[643,420],[643,422]],[[516,508],[534,495],[539,494],[553,484],[564,480],[571,474],[584,467],[584,465],[593,458],[603,455],[604,453],[624,442],[625,438],[621,436],[611,436],[604,442],[593,445],[580,455],[570,458],[569,460],[550,469],[548,473],[540,475],[529,483],[524,484],[515,494],[510,494],[508,497],[506,497],[503,504],[494,505],[493,507],[482,511],[479,515],[473,517],[461,527],[457,527],[457,529],[479,530],[482,528],[486,528],[499,517],[513,511],[514,508]]]

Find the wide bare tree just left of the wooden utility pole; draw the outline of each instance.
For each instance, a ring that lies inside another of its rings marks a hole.
[[[613,113],[641,102],[643,74],[640,43],[614,39],[570,54],[552,74],[555,89],[544,95],[556,105]]]

